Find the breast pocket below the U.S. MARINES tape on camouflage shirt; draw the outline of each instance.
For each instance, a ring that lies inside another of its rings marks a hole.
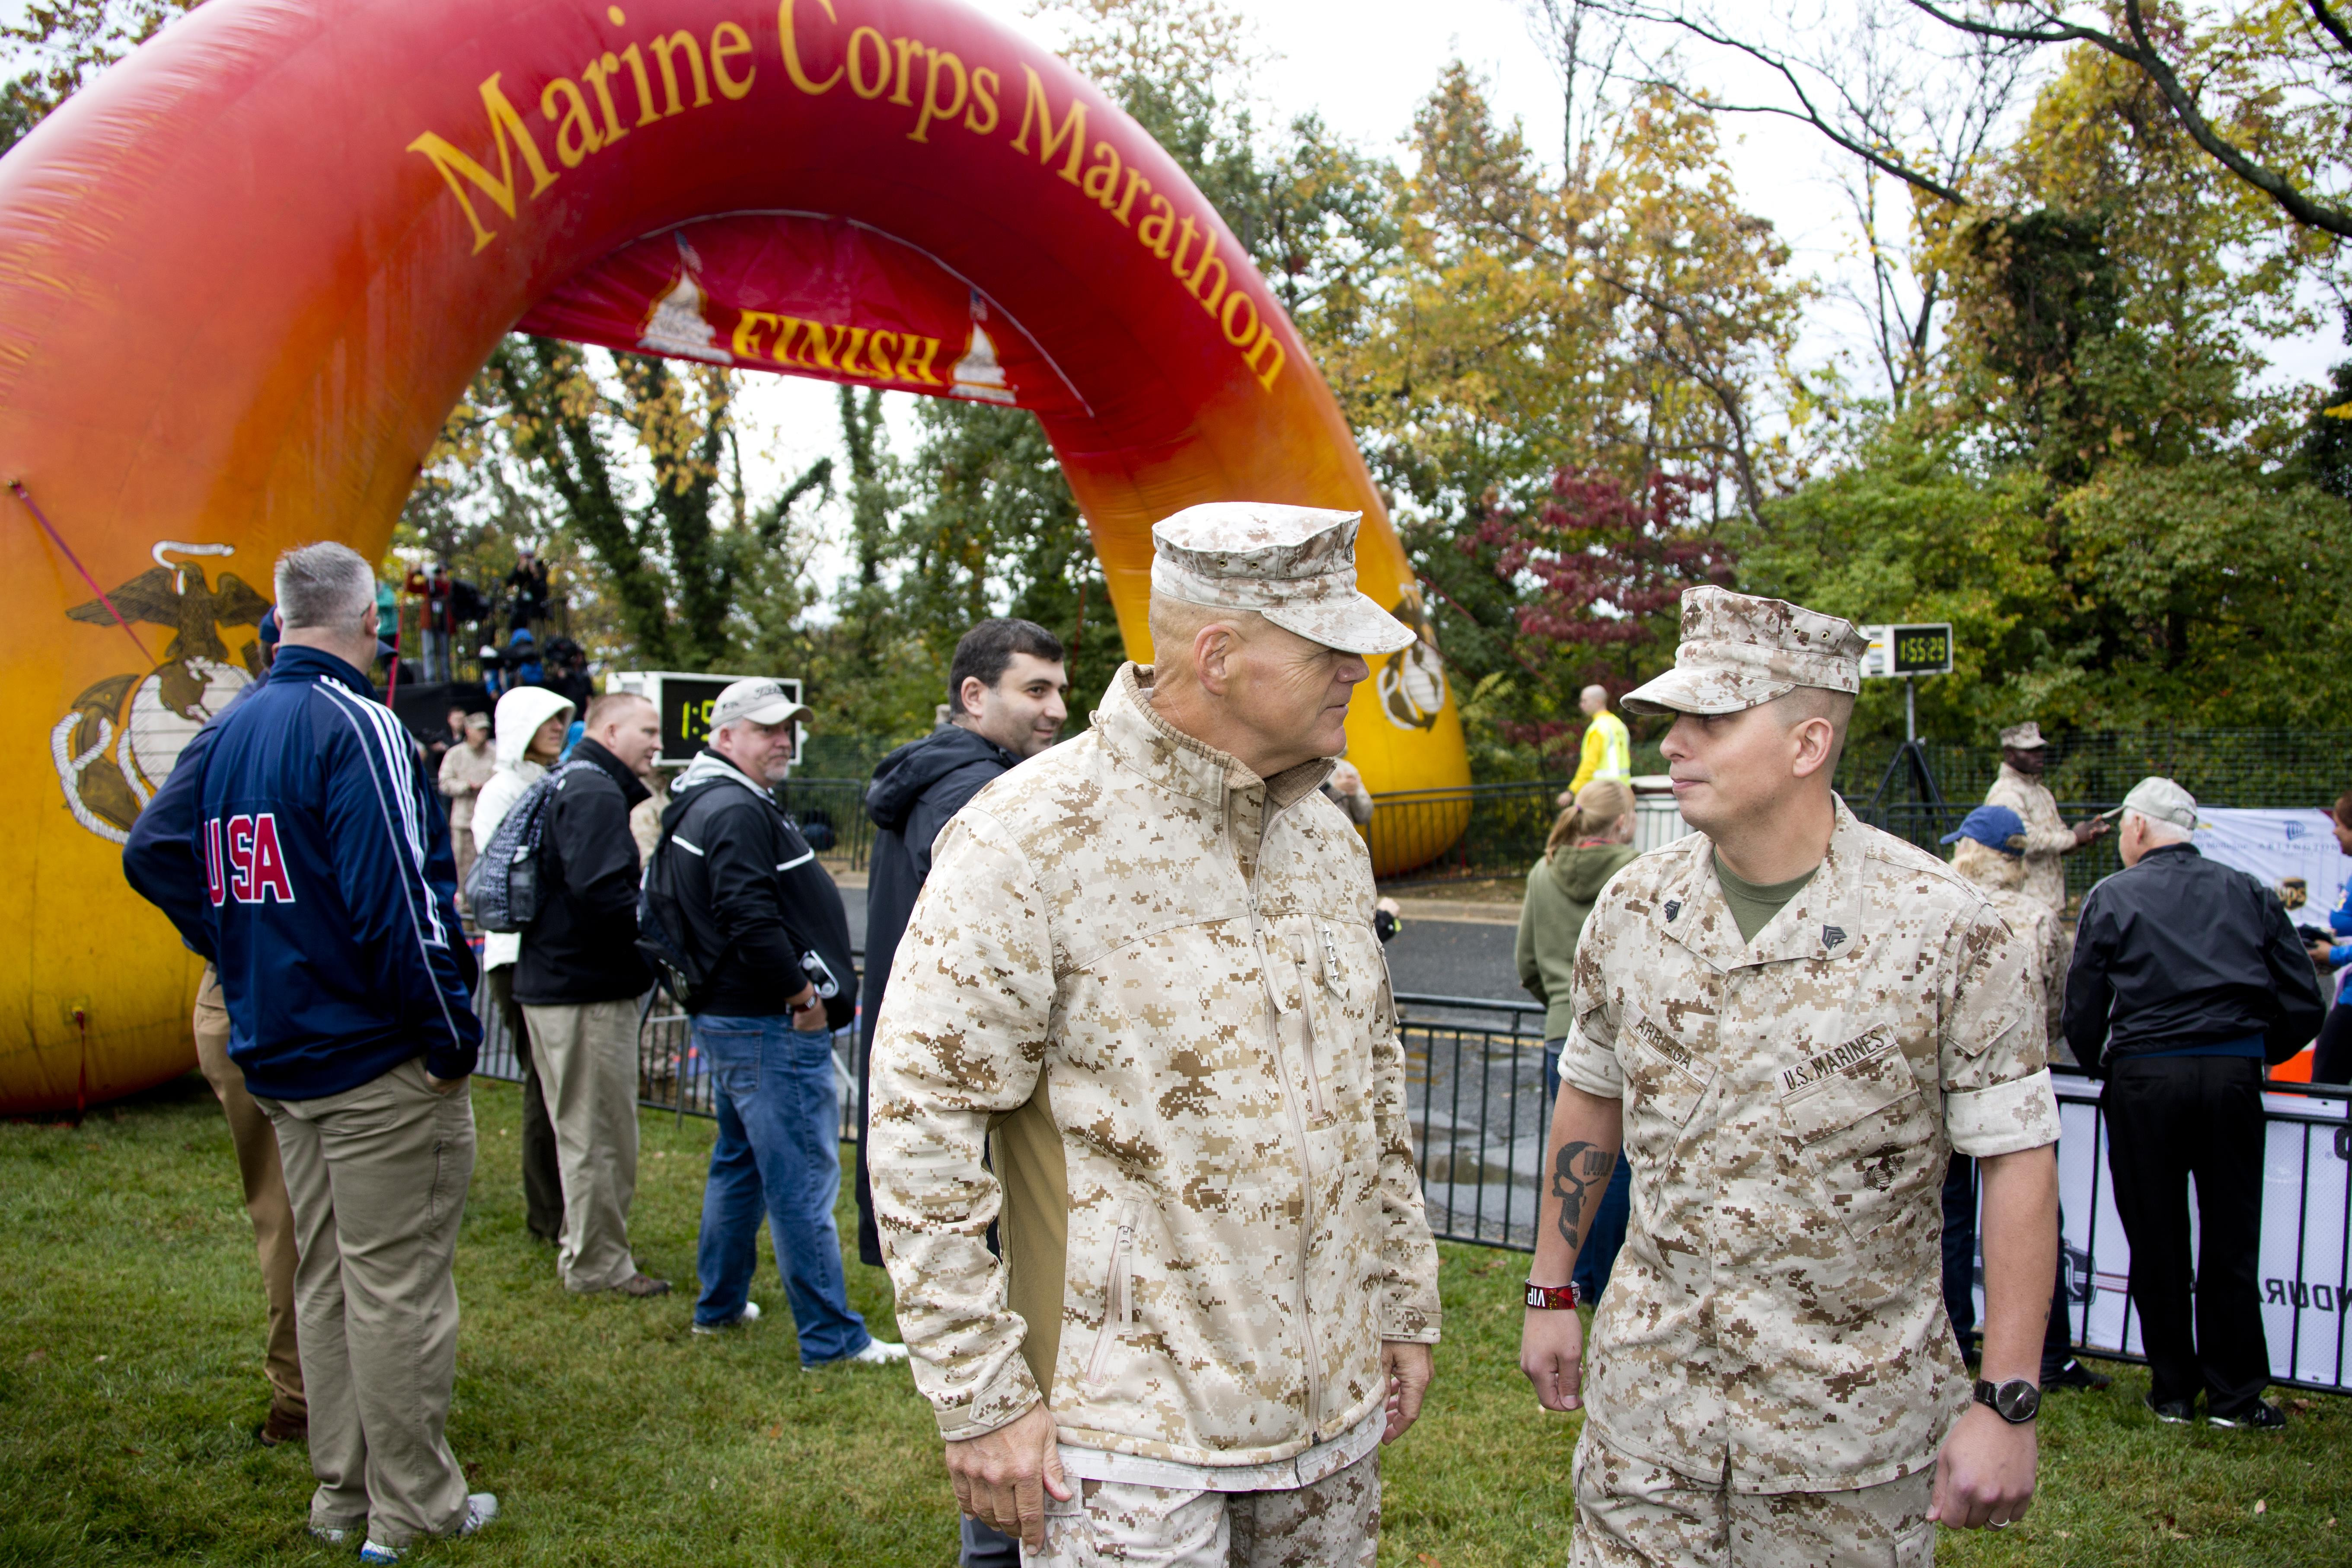
[[[1830,1213],[1865,1237],[1936,1178],[1936,1119],[1893,1030],[1780,1072],[1780,1117]]]

